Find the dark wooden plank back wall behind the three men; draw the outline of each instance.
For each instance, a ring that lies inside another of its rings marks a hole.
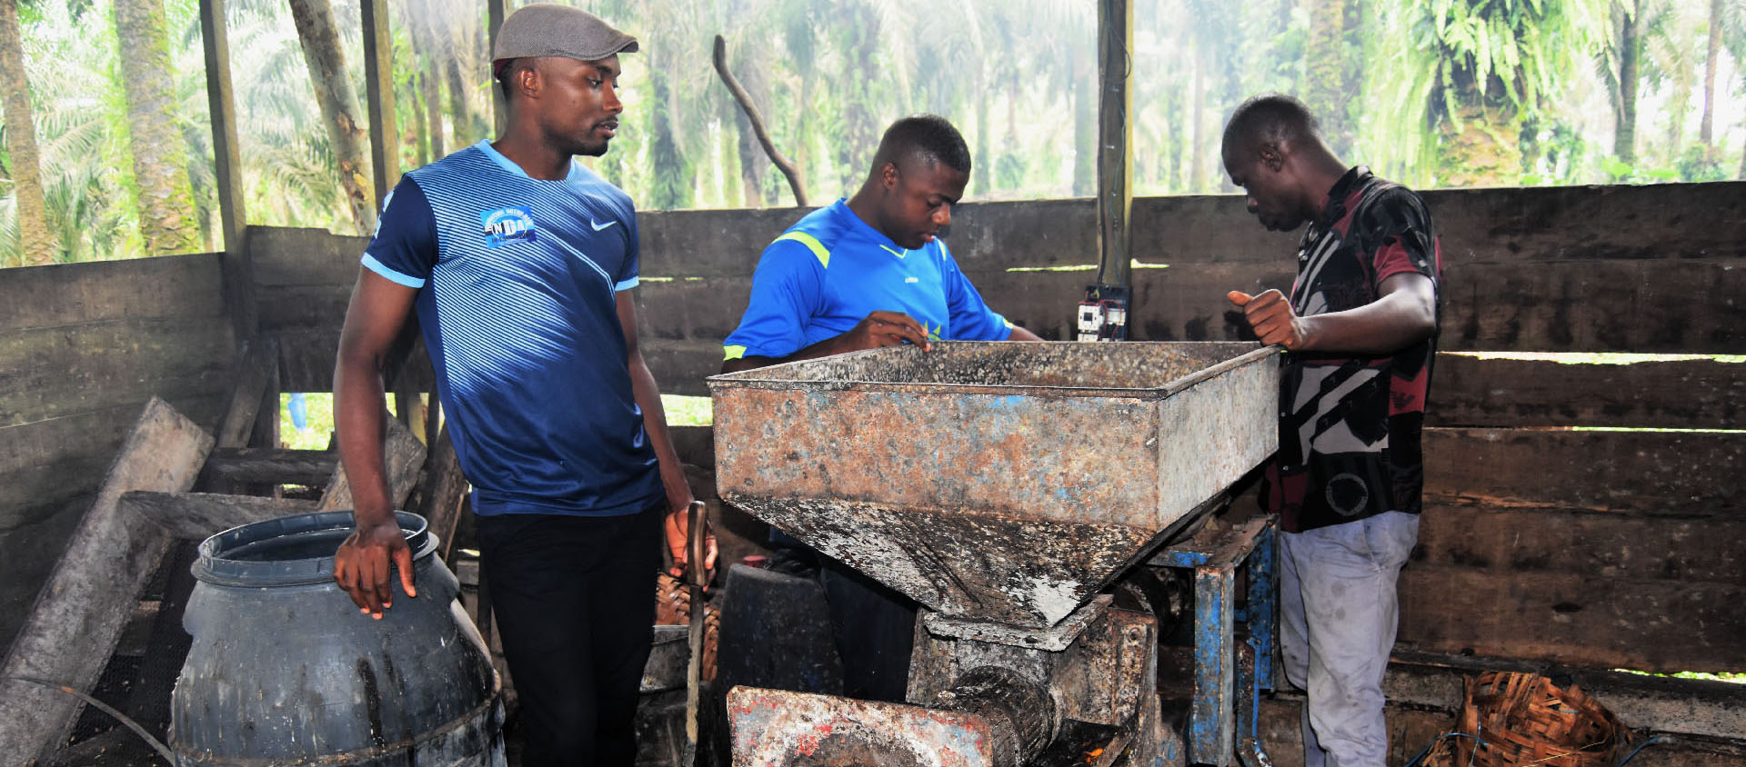
[[[1746,183],[1425,197],[1444,246],[1446,354],[1402,645],[1746,669],[1746,612],[1732,608],[1746,600],[1746,364],[1449,354],[1746,354]],[[641,335],[663,390],[705,394],[760,249],[801,213],[641,214]],[[1083,199],[966,204],[948,242],[997,310],[1067,338],[1093,272],[1058,268],[1095,261],[1095,223]],[[1240,197],[1138,199],[1133,223],[1138,340],[1241,338],[1224,293],[1292,279],[1296,234],[1264,232]],[[257,228],[250,242],[262,324],[292,338],[286,389],[327,390],[365,241]]]

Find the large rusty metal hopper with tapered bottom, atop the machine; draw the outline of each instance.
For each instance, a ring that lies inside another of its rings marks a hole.
[[[936,342],[718,375],[716,481],[943,615],[1046,629],[1275,450],[1273,354]]]

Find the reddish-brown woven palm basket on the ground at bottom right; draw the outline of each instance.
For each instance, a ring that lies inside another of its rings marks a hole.
[[[1467,678],[1456,732],[1430,767],[1613,767],[1631,730],[1577,685],[1536,673],[1488,671]]]

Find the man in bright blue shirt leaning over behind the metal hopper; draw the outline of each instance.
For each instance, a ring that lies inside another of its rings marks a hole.
[[[946,119],[894,122],[854,197],[808,213],[765,248],[721,371],[897,343],[927,350],[932,340],[1042,340],[988,309],[939,239],[969,176],[969,146]],[[915,603],[819,560],[843,694],[903,701]]]

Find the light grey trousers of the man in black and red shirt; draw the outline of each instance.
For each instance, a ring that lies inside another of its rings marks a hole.
[[[1395,579],[1418,544],[1418,514],[1280,535],[1285,678],[1310,694],[1304,767],[1383,767],[1383,671],[1400,610]]]

